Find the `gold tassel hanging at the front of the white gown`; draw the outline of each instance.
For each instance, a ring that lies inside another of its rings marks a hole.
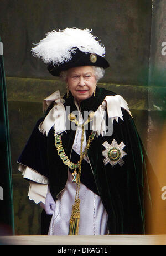
[[[80,199],[75,199],[74,205],[72,205],[72,213],[70,217],[69,235],[79,234],[79,223],[80,223]]]

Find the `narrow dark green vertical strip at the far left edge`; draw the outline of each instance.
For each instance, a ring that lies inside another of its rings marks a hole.
[[[1,38],[0,38],[1,42]],[[2,46],[2,42],[1,42]],[[8,105],[6,80],[4,72],[3,51],[0,51],[0,186],[3,189],[3,200],[0,200],[0,233],[14,235],[14,207],[11,147],[9,140]],[[2,198],[1,198],[2,199]]]

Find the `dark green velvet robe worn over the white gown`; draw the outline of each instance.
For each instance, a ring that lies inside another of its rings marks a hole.
[[[96,88],[95,97],[92,96],[81,102],[82,114],[84,111],[96,111],[108,95],[115,95],[115,93],[103,88]],[[64,96],[64,99],[65,107],[70,106],[71,112],[77,110],[72,95],[68,99]],[[100,135],[92,141],[87,151],[92,170],[90,165],[84,168],[84,164],[86,165],[84,163],[81,181],[100,195],[108,214],[110,234],[144,234],[146,228],[145,198],[151,205],[146,168],[148,159],[131,115],[125,109],[122,109],[122,113],[123,121],[120,118],[118,122],[113,121],[112,136],[102,137]],[[48,137],[39,132],[38,126],[43,120],[40,119],[37,122],[18,162],[48,177],[51,194],[56,200],[56,196],[65,188],[68,167],[63,164],[56,151],[53,127],[50,129]],[[86,131],[86,139],[90,133],[90,130]],[[63,132],[63,147],[68,157],[71,155],[74,137],[75,131],[73,130]],[[102,151],[105,147],[102,144],[105,141],[111,144],[113,139],[118,144],[123,141],[126,145],[123,149],[127,153],[123,157],[125,161],[123,166],[116,164],[112,167],[110,164],[103,164],[105,157],[102,156]],[[145,187],[146,190],[144,190]]]

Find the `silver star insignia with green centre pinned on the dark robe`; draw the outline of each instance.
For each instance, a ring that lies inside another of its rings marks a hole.
[[[117,163],[120,166],[125,164],[122,158],[127,155],[127,153],[123,151],[123,148],[126,146],[123,141],[118,145],[116,140],[113,139],[111,144],[105,141],[102,145],[105,147],[105,150],[102,151],[102,155],[105,156],[105,159],[103,160],[105,165],[108,163],[110,163],[112,166],[116,165]]]

